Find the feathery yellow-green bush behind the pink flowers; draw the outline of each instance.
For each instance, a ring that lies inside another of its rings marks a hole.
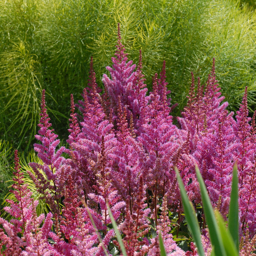
[[[246,9],[247,10],[247,9]],[[255,103],[255,20],[233,1],[8,0],[0,1],[0,133],[15,148],[28,149],[39,120],[43,88],[54,127],[66,140],[69,97],[80,98],[90,56],[97,82],[115,50],[117,23],[129,59],[142,50],[148,86],[166,60],[172,102],[179,115],[190,72],[205,77],[212,58],[230,109],[248,86]]]

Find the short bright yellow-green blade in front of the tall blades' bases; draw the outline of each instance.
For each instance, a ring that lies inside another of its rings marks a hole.
[[[238,256],[238,249],[236,248],[233,237],[231,236],[229,230],[226,229],[225,222],[220,212],[215,211],[215,216],[220,228],[221,239],[224,244],[227,256]]]

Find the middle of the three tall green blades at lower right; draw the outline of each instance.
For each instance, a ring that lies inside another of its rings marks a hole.
[[[212,246],[214,246],[214,248],[215,248],[215,250],[214,250],[215,255],[216,256],[226,256],[227,254],[225,252],[224,245],[221,241],[220,228],[215,219],[215,215],[214,215],[214,212],[212,209],[212,204],[211,204],[210,198],[208,196],[206,187],[204,185],[204,180],[201,176],[201,173],[198,170],[198,167],[196,167],[196,176],[197,176],[197,180],[200,185],[205,220],[206,220],[206,223],[209,228],[209,235],[210,235],[210,240],[211,240]]]

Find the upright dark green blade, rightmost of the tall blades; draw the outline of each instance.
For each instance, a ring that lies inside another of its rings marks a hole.
[[[239,248],[239,220],[238,220],[238,177],[237,165],[233,168],[232,188],[228,213],[228,230],[234,240],[236,248]]]

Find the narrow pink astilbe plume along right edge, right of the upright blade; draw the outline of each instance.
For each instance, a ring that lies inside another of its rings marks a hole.
[[[255,143],[255,115],[252,124],[248,117],[247,87],[245,88],[242,104],[236,112],[236,126],[234,132],[236,140],[233,145],[234,160],[238,164],[239,177],[239,206],[241,211],[240,221],[242,231],[246,228],[250,231],[250,237],[255,234],[256,212],[256,143]]]

